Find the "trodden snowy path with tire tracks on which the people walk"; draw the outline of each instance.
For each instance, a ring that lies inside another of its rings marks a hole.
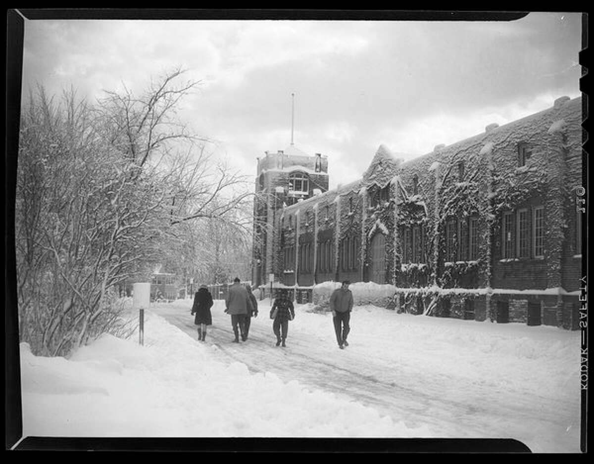
[[[191,304],[189,304],[191,306]],[[188,333],[194,340],[197,331],[188,312],[155,309],[168,322]],[[533,430],[550,430],[551,443],[558,441],[567,424],[561,423],[559,408],[574,407],[574,403],[555,398],[546,392],[514,392],[503,387],[493,389],[476,383],[476,379],[455,373],[426,371],[414,359],[368,358],[357,351],[357,342],[345,350],[332,342],[329,329],[321,339],[289,323],[287,347],[276,347],[271,320],[261,316],[252,319],[247,342],[232,343],[233,332],[228,314],[212,311],[213,326],[207,330],[206,345],[223,362],[244,363],[252,373],[271,372],[283,382],[298,380],[307,389],[321,389],[335,395],[371,406],[381,415],[408,427],[428,425],[436,437],[514,437],[530,446]],[[264,323],[263,323],[264,319]],[[355,339],[356,340],[356,339]],[[216,349],[214,349],[216,348]],[[460,400],[458,392],[465,392]],[[485,397],[488,395],[488,398]],[[513,402],[510,402],[513,398]],[[510,423],[510,418],[513,422]],[[519,424],[522,424],[520,427]],[[543,425],[545,424],[545,425]],[[489,434],[485,435],[484,432]],[[539,438],[542,441],[542,438]],[[567,445],[565,445],[567,446]],[[555,445],[552,445],[555,449]]]

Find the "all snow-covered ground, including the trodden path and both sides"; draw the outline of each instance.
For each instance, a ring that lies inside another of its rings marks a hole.
[[[21,344],[23,436],[510,437],[537,452],[579,452],[579,332],[356,306],[351,344],[339,350],[330,315],[304,304],[282,351],[267,301],[245,344],[230,343],[221,301],[207,342],[196,341],[189,300],[146,312],[144,346],[138,335],[104,335],[67,360]],[[166,322],[173,316],[183,329]],[[279,353],[296,367],[269,362]],[[325,388],[299,356],[358,390]],[[387,387],[387,407],[359,395],[367,377],[370,392]]]

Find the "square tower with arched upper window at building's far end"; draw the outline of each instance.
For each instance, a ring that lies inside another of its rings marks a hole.
[[[258,158],[252,251],[252,283],[256,287],[269,284],[270,274],[280,272],[277,222],[283,207],[327,190],[328,159],[320,153],[308,155],[289,145],[286,150],[266,151]]]

